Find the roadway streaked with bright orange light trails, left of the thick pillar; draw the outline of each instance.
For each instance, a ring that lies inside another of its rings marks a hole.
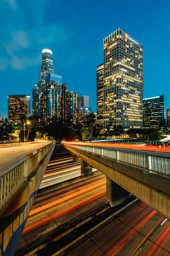
[[[76,221],[106,205],[106,181],[99,175],[37,196],[18,248],[71,219]]]

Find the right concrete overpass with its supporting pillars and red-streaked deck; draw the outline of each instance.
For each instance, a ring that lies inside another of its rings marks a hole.
[[[103,143],[62,145],[74,154],[74,161],[81,159],[81,175],[94,167],[106,176],[106,200],[111,207],[125,201],[128,191],[170,219],[170,154]]]

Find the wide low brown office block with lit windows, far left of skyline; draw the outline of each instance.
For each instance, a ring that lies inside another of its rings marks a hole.
[[[21,123],[21,114],[30,116],[30,95],[8,95],[8,122]]]

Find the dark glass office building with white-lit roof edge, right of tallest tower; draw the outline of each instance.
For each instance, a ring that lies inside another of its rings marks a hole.
[[[163,128],[167,125],[167,97],[165,95],[143,99],[143,127]]]

